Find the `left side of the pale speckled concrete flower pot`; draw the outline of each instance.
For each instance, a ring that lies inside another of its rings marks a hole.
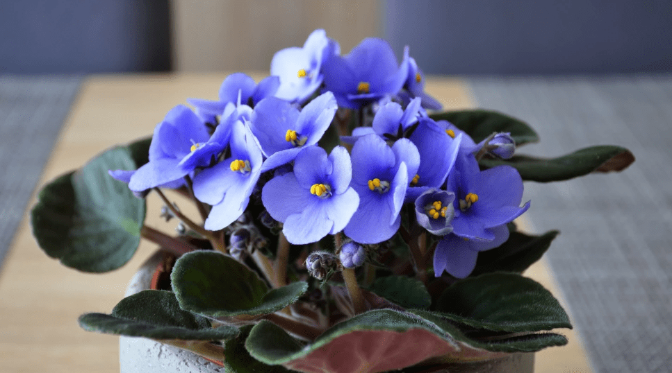
[[[147,259],[129,282],[126,297],[149,289],[151,277],[162,259],[160,251]],[[192,352],[138,337],[119,338],[119,365],[121,373],[224,372],[224,367]]]

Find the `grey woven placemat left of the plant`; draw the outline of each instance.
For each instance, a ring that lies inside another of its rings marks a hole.
[[[80,83],[0,75],[0,266]]]

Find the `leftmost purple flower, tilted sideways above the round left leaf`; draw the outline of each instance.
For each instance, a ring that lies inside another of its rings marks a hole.
[[[196,167],[208,166],[212,156],[221,151],[215,145],[200,146],[209,139],[203,121],[188,107],[177,105],[154,128],[149,145],[149,162],[136,171],[114,170],[109,173],[117,180],[128,182],[133,192],[143,192],[156,186],[179,187],[183,184],[183,177]]]

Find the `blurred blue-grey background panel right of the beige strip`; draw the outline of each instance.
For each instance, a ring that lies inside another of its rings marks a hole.
[[[672,71],[669,0],[386,0],[383,35],[427,73]]]

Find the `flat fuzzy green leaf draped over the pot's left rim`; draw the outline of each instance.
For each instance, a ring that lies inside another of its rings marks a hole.
[[[175,295],[164,290],[143,290],[125,297],[112,310],[86,313],[79,325],[88,331],[155,340],[225,340],[238,335],[238,329],[222,326],[213,329],[208,319],[180,309]]]

